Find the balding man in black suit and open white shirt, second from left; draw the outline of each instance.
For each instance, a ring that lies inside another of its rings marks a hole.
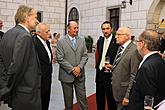
[[[36,33],[33,37],[35,47],[41,65],[41,102],[42,110],[48,110],[52,82],[52,51],[48,41],[51,33],[49,26],[45,23],[39,23],[36,27]]]

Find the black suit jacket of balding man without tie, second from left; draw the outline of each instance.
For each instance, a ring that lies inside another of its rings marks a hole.
[[[48,53],[42,44],[42,42],[38,39],[38,37],[35,35],[33,37],[35,48],[38,53],[40,65],[41,65],[41,87],[42,91],[50,90],[50,84],[51,84],[51,78],[52,78],[52,51],[50,48],[49,41],[46,41],[48,44],[48,48],[51,53],[51,61],[49,59]]]

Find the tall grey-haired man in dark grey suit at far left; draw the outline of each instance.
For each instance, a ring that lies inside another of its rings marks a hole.
[[[36,11],[19,6],[16,26],[0,43],[0,96],[8,95],[12,110],[41,110],[41,70],[30,31],[35,29]]]

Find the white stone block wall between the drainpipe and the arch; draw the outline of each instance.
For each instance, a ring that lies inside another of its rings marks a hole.
[[[126,8],[121,9],[120,26],[130,27],[133,35],[138,36],[146,28],[147,13],[152,2],[133,0],[132,6],[127,3]],[[68,8],[71,9],[73,4],[80,13],[80,35],[91,35],[96,42],[102,35],[100,25],[106,20],[107,8],[119,7],[121,0],[69,0]]]

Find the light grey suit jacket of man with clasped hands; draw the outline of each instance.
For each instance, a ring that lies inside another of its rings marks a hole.
[[[84,66],[88,61],[88,54],[85,40],[76,36],[76,48],[72,46],[72,42],[68,35],[62,37],[57,43],[56,57],[60,64],[59,80],[62,82],[73,82],[75,77],[72,75],[72,68],[79,66],[81,75],[78,77],[80,81],[85,80]]]

